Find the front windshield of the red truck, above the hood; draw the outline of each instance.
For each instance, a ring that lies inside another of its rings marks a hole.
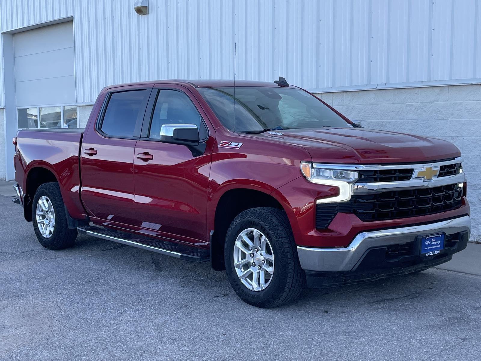
[[[236,87],[197,89],[222,124],[236,132],[299,128],[351,128],[315,96],[297,88]]]

